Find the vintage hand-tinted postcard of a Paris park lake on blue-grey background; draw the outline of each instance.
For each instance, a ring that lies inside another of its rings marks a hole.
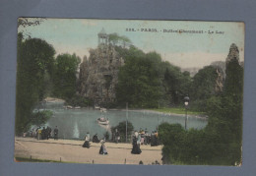
[[[244,23],[19,18],[17,162],[240,166]]]

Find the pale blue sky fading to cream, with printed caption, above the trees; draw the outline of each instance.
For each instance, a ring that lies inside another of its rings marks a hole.
[[[157,51],[163,60],[182,68],[203,67],[214,61],[224,61],[231,43],[238,46],[240,61],[244,60],[243,23],[47,19],[39,26],[20,27],[18,31],[25,30],[32,37],[45,39],[53,45],[57,54],[76,53],[83,58],[89,56],[90,48],[96,48],[97,33],[102,28],[106,33],[126,35],[145,52]],[[141,29],[158,29],[158,32]],[[163,29],[203,30],[204,33],[163,32]],[[214,33],[209,34],[208,30]],[[216,30],[224,31],[224,34],[217,34]]]

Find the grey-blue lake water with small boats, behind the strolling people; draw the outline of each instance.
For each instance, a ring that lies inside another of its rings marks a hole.
[[[46,126],[54,129],[58,126],[59,138],[61,139],[84,139],[87,132],[91,137],[95,134],[99,138],[103,137],[106,131],[110,132],[110,128],[126,120],[134,126],[134,130],[148,129],[149,132],[155,131],[162,122],[170,124],[179,123],[185,125],[185,115],[165,115],[148,111],[129,110],[107,110],[104,115],[109,119],[108,126],[98,125],[96,119],[100,117],[101,112],[93,108],[82,109],[65,109],[63,102],[47,102],[45,109],[53,111],[53,117],[50,118]],[[207,125],[207,120],[188,116],[187,127],[202,129]]]

